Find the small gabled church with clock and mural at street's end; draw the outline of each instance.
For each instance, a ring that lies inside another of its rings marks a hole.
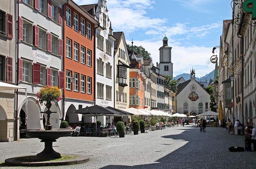
[[[210,110],[210,94],[195,80],[195,71],[190,72],[190,80],[177,87],[177,113],[198,115]]]

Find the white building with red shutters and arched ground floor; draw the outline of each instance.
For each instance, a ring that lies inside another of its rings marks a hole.
[[[25,93],[19,90],[18,124],[21,129],[44,128],[46,116],[44,104],[37,103],[41,87],[64,88],[62,72],[62,5],[66,0],[23,0],[18,5],[18,80],[27,88],[28,109],[25,109]],[[59,128],[63,117],[61,101],[52,103],[51,124]],[[19,132],[19,131],[18,131]]]

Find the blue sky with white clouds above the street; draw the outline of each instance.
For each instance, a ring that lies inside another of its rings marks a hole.
[[[98,0],[75,0],[79,5]],[[232,17],[231,0],[107,0],[114,32],[123,31],[126,43],[142,45],[159,62],[158,49],[164,34],[172,48],[174,76],[189,73],[197,77],[211,72],[212,48],[219,45],[223,20]]]

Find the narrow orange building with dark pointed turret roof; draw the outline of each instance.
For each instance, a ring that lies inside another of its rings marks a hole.
[[[136,109],[144,108],[144,84],[146,74],[143,72],[143,65],[135,54],[130,54],[130,106]]]

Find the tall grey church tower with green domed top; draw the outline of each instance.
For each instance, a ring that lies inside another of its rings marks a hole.
[[[160,74],[173,77],[172,63],[172,47],[168,46],[168,38],[163,38],[163,46],[160,47],[160,63],[157,67],[160,69]]]

